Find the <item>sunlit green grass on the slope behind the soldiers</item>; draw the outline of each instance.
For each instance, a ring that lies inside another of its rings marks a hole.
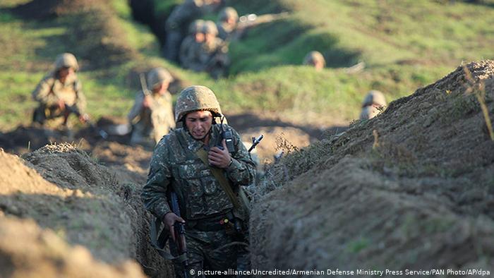
[[[104,16],[79,13],[83,17],[42,21],[24,20],[5,9],[25,2],[0,4],[4,8],[0,11],[0,102],[15,103],[1,109],[1,130],[29,123],[35,107],[30,92],[60,52],[73,52],[81,60],[80,78],[93,118],[124,116],[139,87],[135,73],[165,66],[181,85],[212,87],[227,114],[267,111],[285,121],[320,126],[356,119],[361,99],[370,89],[385,92],[390,101],[432,83],[462,61],[493,58],[490,4],[234,0],[230,4],[239,14],[289,11],[290,16],[253,28],[243,40],[232,42],[231,75],[212,80],[161,59],[157,40],[147,27],[131,20],[126,1],[111,1],[114,12]],[[179,2],[155,1],[157,18]],[[104,19],[110,23],[101,23]],[[80,34],[88,29],[95,34]],[[104,32],[115,34],[105,40]],[[313,49],[327,59],[322,72],[300,66]],[[107,52],[112,55],[102,57]],[[363,71],[345,71],[359,61],[366,63]]]

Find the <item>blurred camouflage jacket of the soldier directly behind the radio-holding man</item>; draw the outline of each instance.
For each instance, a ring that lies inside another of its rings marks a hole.
[[[134,105],[127,115],[128,121],[134,123],[135,126],[140,126],[142,130],[149,130],[154,126],[167,126],[167,129],[174,128],[175,120],[171,94],[169,92],[164,95],[152,94],[152,99],[149,108],[143,107],[144,93],[140,90],[135,95]],[[164,134],[159,137],[161,138]]]

